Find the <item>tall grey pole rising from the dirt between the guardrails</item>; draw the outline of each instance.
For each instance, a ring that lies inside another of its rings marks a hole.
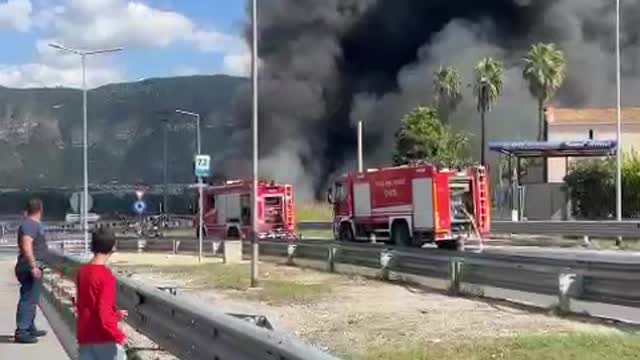
[[[258,2],[251,2],[251,92],[253,117],[253,220],[251,234],[251,286],[258,286]]]

